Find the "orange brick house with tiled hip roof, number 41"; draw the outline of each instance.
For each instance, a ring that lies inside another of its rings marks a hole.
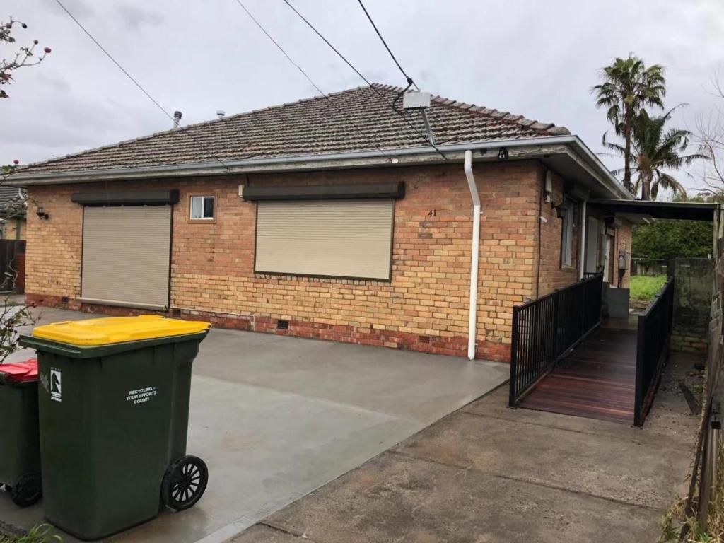
[[[433,147],[421,111],[390,108],[400,90],[22,169],[13,185],[47,214],[28,214],[28,300],[506,361],[515,304],[591,271],[626,287],[614,263],[631,226],[586,203],[632,196],[579,138],[433,96]]]

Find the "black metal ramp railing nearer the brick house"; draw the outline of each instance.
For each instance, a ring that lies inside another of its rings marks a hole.
[[[511,407],[601,324],[602,286],[603,274],[595,274],[513,308]]]

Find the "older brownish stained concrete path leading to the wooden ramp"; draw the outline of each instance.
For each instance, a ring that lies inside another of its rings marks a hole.
[[[692,362],[669,363],[644,429],[508,409],[500,387],[232,541],[654,542],[686,487]]]

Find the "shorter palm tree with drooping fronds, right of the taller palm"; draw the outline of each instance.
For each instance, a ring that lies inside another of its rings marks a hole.
[[[689,130],[666,128],[676,107],[658,117],[651,117],[644,110],[634,119],[631,130],[633,152],[626,165],[638,174],[633,193],[638,194],[641,190],[641,200],[656,200],[659,188],[672,190],[677,196],[686,195],[683,185],[664,170],[679,169],[696,159],[707,159],[707,156],[699,153],[684,154],[689,146]],[[626,146],[606,141],[605,134],[603,143],[607,148],[626,156]]]

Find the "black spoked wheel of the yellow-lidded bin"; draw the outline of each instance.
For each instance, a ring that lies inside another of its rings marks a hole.
[[[166,470],[161,500],[173,510],[188,509],[201,499],[208,482],[206,463],[196,456],[182,456]]]

